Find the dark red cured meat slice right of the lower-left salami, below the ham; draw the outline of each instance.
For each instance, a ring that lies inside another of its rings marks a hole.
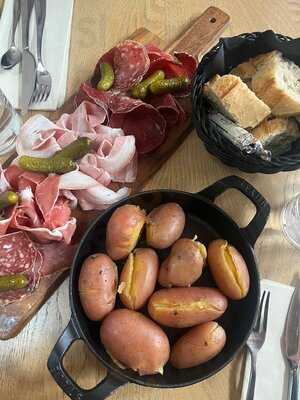
[[[77,245],[65,242],[60,243],[36,243],[36,247],[43,255],[41,276],[48,276],[55,272],[69,269],[71,267]]]

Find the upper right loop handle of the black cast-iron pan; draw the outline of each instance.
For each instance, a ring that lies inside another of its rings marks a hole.
[[[228,189],[239,190],[248,197],[256,207],[256,214],[252,221],[250,221],[246,228],[241,229],[253,247],[266,225],[270,214],[270,205],[266,199],[252,185],[250,185],[250,183],[235,175],[227,176],[226,178],[213,183],[206,189],[201,190],[198,194],[214,201],[216,197]]]

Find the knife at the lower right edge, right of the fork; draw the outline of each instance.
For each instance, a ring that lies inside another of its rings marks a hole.
[[[300,364],[300,286],[294,290],[285,326],[285,355],[289,365],[288,400],[298,400]]]

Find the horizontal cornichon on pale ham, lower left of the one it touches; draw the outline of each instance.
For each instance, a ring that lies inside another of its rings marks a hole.
[[[76,169],[76,163],[73,160],[62,157],[37,158],[21,156],[18,162],[20,167],[27,171],[41,172],[44,174],[64,174]]]

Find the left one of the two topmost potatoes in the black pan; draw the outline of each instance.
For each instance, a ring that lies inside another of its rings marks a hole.
[[[145,222],[145,211],[132,204],[125,204],[113,212],[106,228],[106,250],[113,260],[128,257],[139,240]]]

